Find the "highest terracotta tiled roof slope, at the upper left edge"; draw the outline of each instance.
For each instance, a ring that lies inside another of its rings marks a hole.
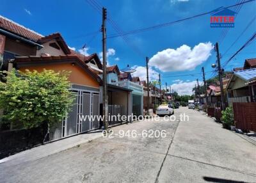
[[[40,38],[44,37],[31,29],[25,28],[24,26],[13,22],[13,20],[7,19],[0,15],[0,28],[5,29],[6,31],[10,31],[16,35],[27,38],[28,40],[37,41]]]

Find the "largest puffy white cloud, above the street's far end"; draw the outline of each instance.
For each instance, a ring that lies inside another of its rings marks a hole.
[[[211,42],[200,43],[193,49],[188,45],[182,45],[177,49],[168,48],[157,52],[150,58],[148,65],[163,72],[193,70],[211,56],[212,49]]]

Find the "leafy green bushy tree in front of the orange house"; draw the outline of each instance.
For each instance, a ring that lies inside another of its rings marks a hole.
[[[74,99],[69,91],[68,75],[66,71],[23,73],[13,69],[6,83],[0,83],[3,121],[22,123],[26,129],[61,122]]]

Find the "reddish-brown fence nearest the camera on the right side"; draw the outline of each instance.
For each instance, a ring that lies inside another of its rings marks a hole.
[[[256,102],[234,102],[233,110],[237,129],[256,132]]]

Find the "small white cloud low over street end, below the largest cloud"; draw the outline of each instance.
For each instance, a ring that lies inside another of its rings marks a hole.
[[[198,81],[199,84],[202,84],[202,81]],[[177,92],[179,95],[192,95],[192,89],[197,86],[197,81],[181,81],[179,83],[174,83],[171,85],[171,88]]]

